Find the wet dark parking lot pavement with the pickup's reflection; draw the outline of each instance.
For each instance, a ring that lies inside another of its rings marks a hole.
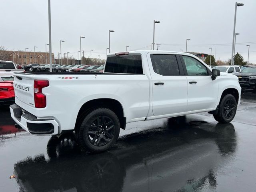
[[[256,102],[243,99],[229,124],[200,113],[136,122],[101,154],[72,135],[33,136],[0,109],[0,191],[255,191]],[[9,179],[15,174],[16,178]]]

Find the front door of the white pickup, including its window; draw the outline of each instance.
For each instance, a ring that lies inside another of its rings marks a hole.
[[[188,111],[214,108],[218,97],[218,80],[198,59],[180,56],[188,80]]]

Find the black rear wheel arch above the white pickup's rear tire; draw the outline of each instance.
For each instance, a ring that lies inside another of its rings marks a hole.
[[[112,98],[97,98],[84,103],[77,114],[75,129],[81,123],[82,117],[96,108],[108,108],[112,110],[118,117],[120,128],[125,129],[126,117],[124,117],[124,108],[118,100]]]

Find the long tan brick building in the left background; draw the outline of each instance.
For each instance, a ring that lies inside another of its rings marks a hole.
[[[36,52],[34,51],[2,51],[6,52],[6,60],[13,61],[16,64],[20,65],[26,65],[26,64],[46,64],[46,58],[47,58],[47,64],[50,63],[50,55],[49,53],[45,52]],[[36,56],[36,57],[35,57]],[[52,53],[52,63],[54,63],[54,53]]]

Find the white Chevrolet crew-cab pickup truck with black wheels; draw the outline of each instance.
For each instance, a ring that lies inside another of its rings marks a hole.
[[[90,152],[114,144],[126,123],[209,112],[232,121],[238,78],[184,52],[108,54],[103,73],[14,73],[12,118],[35,135],[75,131]]]

